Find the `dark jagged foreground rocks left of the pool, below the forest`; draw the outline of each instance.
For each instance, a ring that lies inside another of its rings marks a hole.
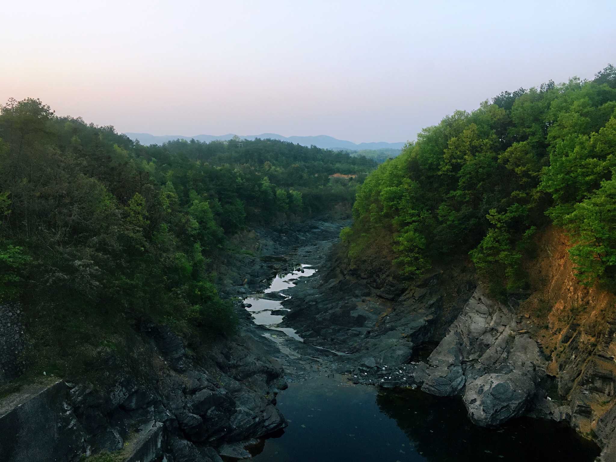
[[[0,459],[77,461],[119,450],[126,462],[153,461],[164,451],[175,460],[212,461],[219,460],[214,447],[286,426],[274,406],[283,371],[252,334],[210,347],[199,364],[166,326],[149,326],[147,334],[156,370],[150,383],[120,369],[108,386],[49,377],[4,397]]]

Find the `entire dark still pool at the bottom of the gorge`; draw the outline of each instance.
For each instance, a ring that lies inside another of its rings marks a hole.
[[[289,426],[265,441],[256,462],[591,462],[599,455],[566,425],[519,418],[479,428],[460,399],[420,391],[310,379],[290,383],[277,407]]]

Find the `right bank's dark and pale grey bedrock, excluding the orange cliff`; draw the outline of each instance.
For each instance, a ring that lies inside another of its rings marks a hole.
[[[288,290],[285,322],[307,344],[346,353],[330,362],[356,383],[461,395],[481,426],[504,423],[545,398],[548,359],[525,330],[515,299],[506,306],[487,298],[464,270],[408,283],[339,263]],[[417,347],[434,341],[425,364],[411,361]]]

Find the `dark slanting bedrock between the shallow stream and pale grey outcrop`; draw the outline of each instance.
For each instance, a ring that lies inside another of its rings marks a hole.
[[[283,306],[291,312],[285,325],[307,344],[360,360],[372,357],[381,367],[408,363],[416,345],[442,337],[442,326],[455,319],[474,290],[472,280],[452,282],[437,272],[410,287],[387,278],[391,298],[383,298],[382,290],[339,274],[335,264],[286,291],[291,298]]]

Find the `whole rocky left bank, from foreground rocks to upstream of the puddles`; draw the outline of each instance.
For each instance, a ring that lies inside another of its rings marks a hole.
[[[240,239],[245,247],[254,240],[261,255],[280,254],[303,241],[321,242],[321,236],[331,240],[338,232],[339,225],[313,222],[262,231],[269,239],[256,232]],[[251,252],[230,254],[218,274],[221,295],[238,300],[236,334],[203,344],[168,325],[142,325],[129,345],[132,357],[122,357],[113,345],[100,346],[98,370],[90,378],[47,371],[20,377],[28,349],[26,322],[18,304],[2,306],[0,459],[107,460],[100,457],[108,455],[130,462],[205,462],[250,456],[246,448],[286,426],[275,408],[285,376],[316,370],[316,360],[289,355],[262,336],[264,328],[253,324],[238,296],[262,290],[277,272],[292,268],[284,258],[272,263]]]

